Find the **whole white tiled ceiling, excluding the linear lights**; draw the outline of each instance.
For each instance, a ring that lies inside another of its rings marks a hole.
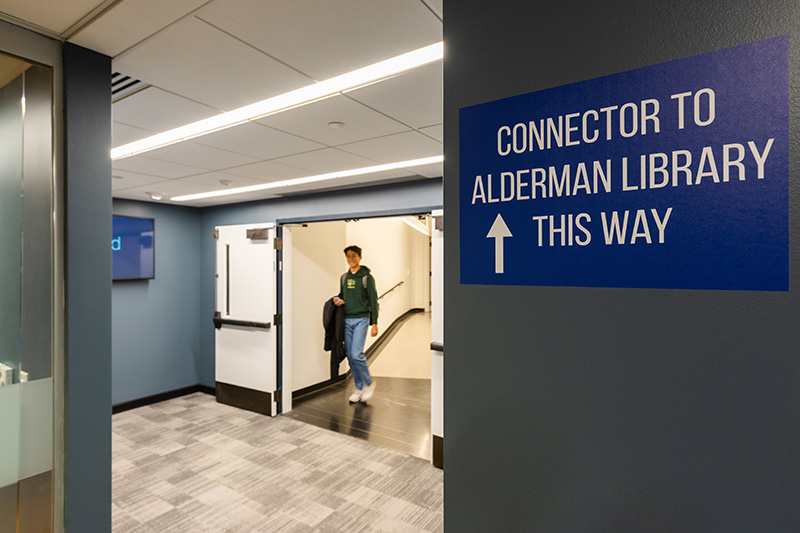
[[[442,39],[442,0],[3,0],[0,18],[107,54],[115,72],[141,80],[146,88],[112,106],[114,147]],[[439,61],[114,161],[110,179],[115,198],[150,201],[152,192],[169,203],[178,194],[441,154]],[[441,175],[442,165],[434,164],[183,205]]]

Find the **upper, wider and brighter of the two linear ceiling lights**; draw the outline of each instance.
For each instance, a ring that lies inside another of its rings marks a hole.
[[[234,109],[233,111],[198,120],[197,122],[158,133],[132,143],[123,144],[111,150],[111,159],[116,160],[141,154],[156,148],[244,124],[249,120],[255,120],[301,105],[310,104],[324,98],[329,98],[343,91],[356,89],[437,61],[442,58],[442,54],[443,45],[442,42],[438,42],[420,48],[419,50],[414,50],[413,52],[408,52],[375,63],[374,65],[336,76],[329,80],[314,83],[313,85],[308,85],[272,98],[267,98],[255,104],[246,105],[239,109]]]

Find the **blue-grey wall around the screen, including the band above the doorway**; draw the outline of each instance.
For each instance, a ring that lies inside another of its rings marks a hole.
[[[156,277],[113,284],[113,403],[214,387],[214,227],[423,212],[440,179],[195,209],[114,201],[114,214],[155,219]],[[109,233],[110,248],[110,233]]]

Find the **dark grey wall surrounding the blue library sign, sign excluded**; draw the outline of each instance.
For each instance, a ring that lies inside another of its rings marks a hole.
[[[796,0],[445,0],[449,531],[800,530],[800,294],[459,284],[461,107],[791,34]]]

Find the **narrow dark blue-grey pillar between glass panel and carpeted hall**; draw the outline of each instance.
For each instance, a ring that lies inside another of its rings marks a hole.
[[[64,45],[66,531],[111,531],[111,58]]]

